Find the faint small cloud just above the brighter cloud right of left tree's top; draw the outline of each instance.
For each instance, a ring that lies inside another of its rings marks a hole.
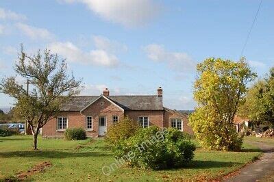
[[[121,44],[115,40],[110,40],[103,36],[93,36],[93,41],[95,42],[95,47],[97,49],[102,49],[104,51],[120,52],[127,51],[127,46],[125,44]]]

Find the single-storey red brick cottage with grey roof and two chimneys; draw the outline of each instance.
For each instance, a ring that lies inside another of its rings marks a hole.
[[[163,107],[162,88],[157,95],[110,96],[108,88],[100,96],[73,96],[62,105],[60,116],[52,118],[42,129],[43,137],[58,138],[67,128],[82,127],[89,137],[105,135],[114,122],[128,116],[142,127],[175,127],[192,133],[188,116]]]

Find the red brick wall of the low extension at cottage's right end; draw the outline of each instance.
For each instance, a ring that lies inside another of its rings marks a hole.
[[[164,110],[164,127],[171,127],[171,119],[178,118],[182,119],[183,131],[192,134],[192,128],[189,126],[188,116],[184,114],[177,114],[177,112]]]

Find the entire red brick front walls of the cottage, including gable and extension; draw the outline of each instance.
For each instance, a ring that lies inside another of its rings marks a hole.
[[[103,101],[103,105],[101,105]],[[112,116],[119,116],[119,120],[124,116],[129,116],[133,120],[138,121],[139,116],[149,117],[149,126],[157,127],[171,127],[172,118],[181,118],[183,122],[183,131],[193,133],[191,127],[188,125],[188,116],[178,114],[177,112],[169,110],[160,111],[125,111],[124,112],[116,105],[110,103],[108,100],[101,98],[88,108],[82,114],[80,112],[62,112],[60,116],[68,118],[68,128],[82,127],[86,129],[86,116],[92,116],[92,131],[86,130],[88,136],[97,137],[99,127],[99,116],[105,116],[107,129],[112,125]],[[64,131],[57,131],[57,120],[53,118],[47,122],[43,127],[42,135],[44,137],[62,137]]]

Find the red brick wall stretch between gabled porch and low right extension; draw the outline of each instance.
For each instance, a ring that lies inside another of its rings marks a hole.
[[[139,116],[149,117],[149,126],[164,127],[163,111],[125,111],[125,116],[129,116],[132,120],[138,121]]]

